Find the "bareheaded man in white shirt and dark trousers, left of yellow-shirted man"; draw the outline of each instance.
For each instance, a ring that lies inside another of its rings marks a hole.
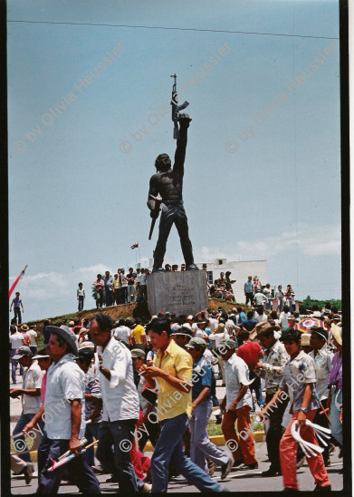
[[[139,395],[134,384],[130,351],[110,336],[112,325],[107,315],[96,314],[91,318],[90,335],[99,354],[103,401],[96,454],[100,463],[117,478],[120,493],[134,493],[138,492],[138,483],[129,451],[139,419]]]

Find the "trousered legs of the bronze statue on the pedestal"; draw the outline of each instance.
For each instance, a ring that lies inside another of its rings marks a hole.
[[[166,244],[169,232],[172,228],[173,223],[176,224],[179,239],[181,242],[181,248],[183,252],[183,257],[185,258],[186,268],[191,264],[194,264],[192,243],[188,235],[188,220],[185,209],[183,207],[183,202],[177,202],[176,204],[164,202],[167,206],[167,212],[161,212],[161,219],[159,221],[158,230],[158,243],[154,252],[154,269],[162,268],[162,263],[164,261]]]

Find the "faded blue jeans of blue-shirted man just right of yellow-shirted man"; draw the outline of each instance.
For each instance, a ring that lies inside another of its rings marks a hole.
[[[213,402],[206,400],[196,405],[189,419],[190,459],[206,473],[208,473],[206,456],[217,466],[222,466],[229,460],[227,453],[209,440],[206,424],[212,411]]]

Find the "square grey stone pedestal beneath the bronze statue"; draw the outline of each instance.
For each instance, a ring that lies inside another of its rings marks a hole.
[[[189,315],[207,307],[206,271],[168,271],[148,276],[148,311]]]

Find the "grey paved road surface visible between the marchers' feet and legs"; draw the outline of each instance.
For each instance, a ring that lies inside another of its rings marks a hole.
[[[227,451],[227,449],[225,449]],[[328,473],[330,476],[330,482],[332,484],[332,490],[342,489],[342,474],[339,473],[342,467],[342,459],[338,457],[338,449],[331,456],[331,466],[328,468]],[[150,454],[148,454],[150,455]],[[233,469],[229,476],[224,481],[225,487],[231,492],[281,492],[282,491],[282,477],[277,476],[273,478],[263,478],[261,473],[268,469],[269,463],[267,462],[266,455],[266,445],[264,442],[256,444],[256,457],[259,462],[259,468],[257,470],[241,471]],[[110,477],[108,474],[99,474],[98,480],[100,482],[100,488],[102,493],[112,493],[117,492],[118,485],[116,483],[106,483],[106,480]],[[216,469],[214,473],[214,478],[217,482],[220,481],[220,470]],[[304,464],[302,468],[298,471],[298,480],[301,491],[312,491],[314,488],[313,479],[307,464]],[[30,494],[35,492],[37,488],[37,478],[33,478],[33,481],[26,485],[24,479],[21,476],[13,476],[12,478],[12,493],[18,494]],[[77,493],[78,489],[76,486],[70,484],[63,484],[59,493]],[[196,487],[191,486],[187,481],[179,476],[173,478],[168,485],[168,492],[197,492]]]

